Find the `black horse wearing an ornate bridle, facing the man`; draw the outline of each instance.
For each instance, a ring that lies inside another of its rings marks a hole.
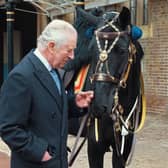
[[[89,65],[82,89],[94,90],[87,123],[90,168],[103,168],[109,147],[113,149],[113,168],[125,168],[142,119],[143,50],[131,36],[128,8],[123,7],[120,13],[94,12],[77,9],[79,40],[75,59],[65,70],[78,74]]]

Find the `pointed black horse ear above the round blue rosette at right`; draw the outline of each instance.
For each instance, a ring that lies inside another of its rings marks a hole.
[[[122,8],[122,11],[119,14],[119,22],[123,30],[131,24],[131,13],[127,7]]]

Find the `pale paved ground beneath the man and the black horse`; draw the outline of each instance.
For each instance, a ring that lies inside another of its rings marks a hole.
[[[73,146],[75,138],[69,136],[68,145]],[[10,151],[0,141],[0,151],[10,156]],[[9,168],[7,155],[0,153],[0,168]],[[105,155],[104,168],[111,168],[111,152]],[[5,157],[5,160],[4,160]],[[6,166],[5,166],[6,165]],[[134,156],[128,168],[166,168],[168,167],[168,115],[148,113],[143,129],[136,135]],[[86,143],[77,156],[72,168],[89,168]]]

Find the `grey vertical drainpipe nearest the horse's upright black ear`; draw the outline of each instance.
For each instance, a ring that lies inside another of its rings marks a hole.
[[[130,0],[130,10],[131,10],[131,23],[136,24],[137,17],[137,0]]]

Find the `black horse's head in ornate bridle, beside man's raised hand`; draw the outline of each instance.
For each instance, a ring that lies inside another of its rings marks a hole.
[[[99,19],[90,45],[92,111],[96,116],[111,113],[118,103],[118,92],[126,87],[131,58],[130,11],[106,13]]]

